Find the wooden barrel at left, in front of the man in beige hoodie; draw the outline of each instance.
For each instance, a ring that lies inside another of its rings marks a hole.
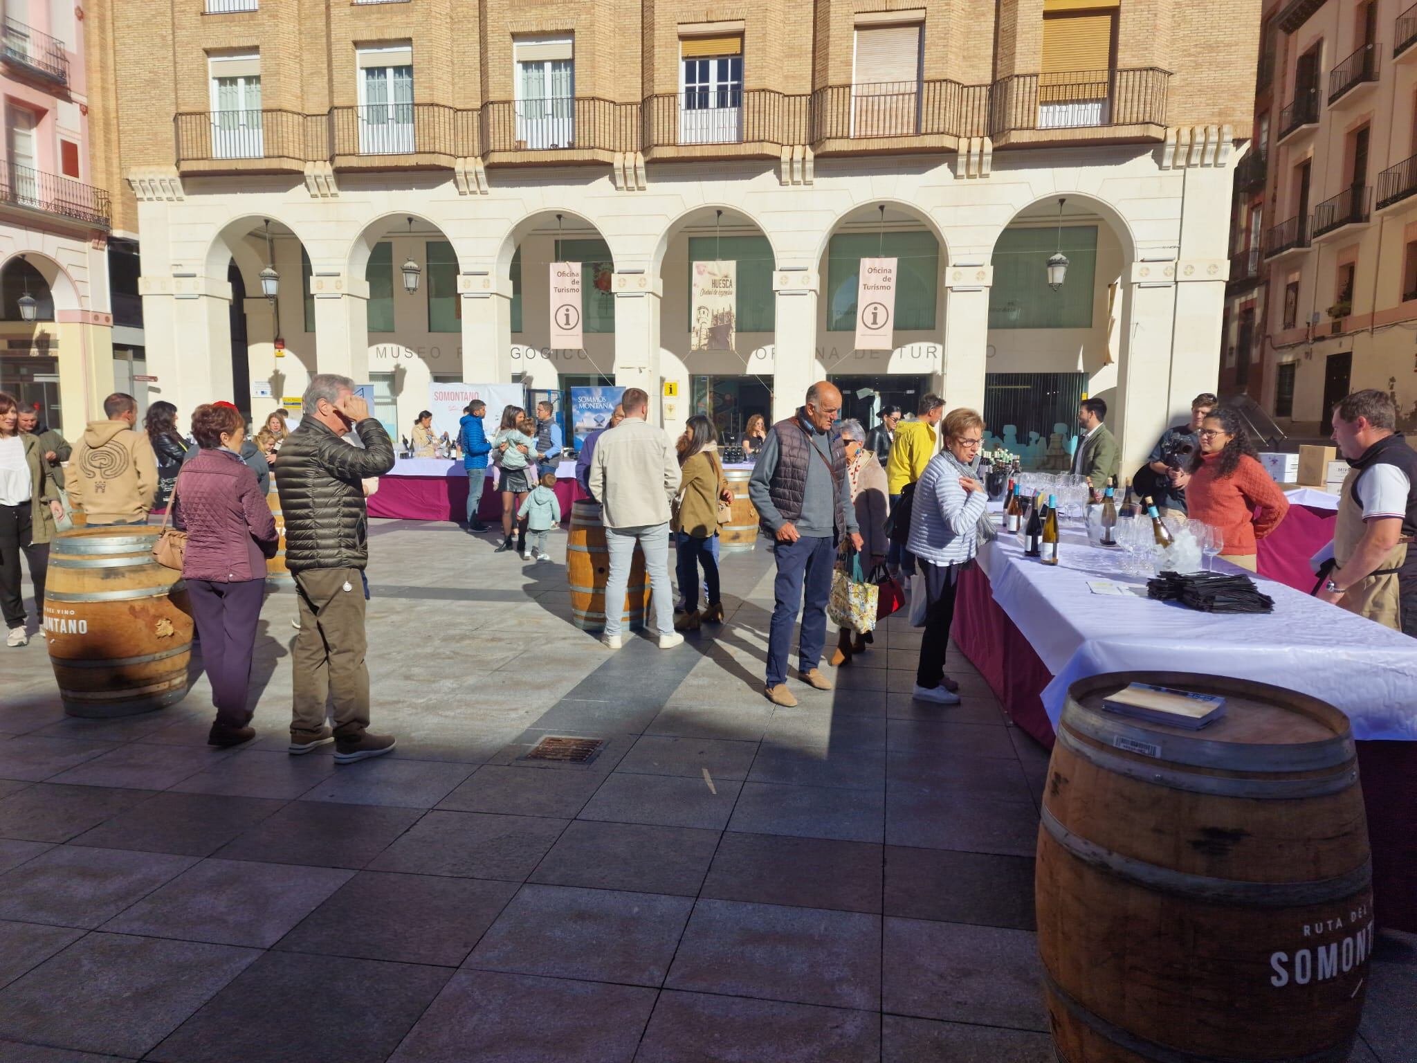
[[[50,543],[44,638],[69,716],[132,716],[187,694],[191,608],[153,560],[159,529],[82,527]]]

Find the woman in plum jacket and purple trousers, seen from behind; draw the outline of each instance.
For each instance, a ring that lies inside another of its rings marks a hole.
[[[191,434],[201,452],[183,465],[173,492],[173,523],[187,532],[181,574],[201,636],[217,719],[207,743],[239,746],[249,727],[251,653],[265,591],[265,563],[275,557],[275,517],[256,475],[241,459],[247,425],[230,403],[200,405]]]

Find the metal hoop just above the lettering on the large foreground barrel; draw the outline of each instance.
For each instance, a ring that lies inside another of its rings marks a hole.
[[[1043,806],[1043,829],[1068,853],[1093,867],[1101,867],[1149,890],[1159,890],[1212,904],[1237,904],[1247,909],[1291,909],[1352,897],[1373,882],[1373,862],[1365,859],[1353,870],[1333,879],[1315,882],[1240,882],[1207,874],[1159,867],[1146,860],[1104,849],[1097,842],[1068,831]]]

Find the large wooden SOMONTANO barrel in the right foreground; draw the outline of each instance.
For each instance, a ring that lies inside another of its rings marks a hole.
[[[1132,682],[1226,699],[1189,731],[1108,712]],[[1058,1059],[1343,1063],[1373,951],[1348,717],[1214,676],[1071,686],[1036,870]]]

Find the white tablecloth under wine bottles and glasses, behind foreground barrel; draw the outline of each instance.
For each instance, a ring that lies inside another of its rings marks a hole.
[[[1298,690],[1348,713],[1357,738],[1417,741],[1417,639],[1271,580],[1270,614],[1207,614],[1172,602],[1093,594],[1124,577],[1119,550],[1066,532],[1060,563],[1023,557],[1016,536],[981,550],[995,601],[1053,673],[1043,706],[1057,726],[1071,683],[1101,672],[1202,672]],[[1217,558],[1217,568],[1241,571]]]

